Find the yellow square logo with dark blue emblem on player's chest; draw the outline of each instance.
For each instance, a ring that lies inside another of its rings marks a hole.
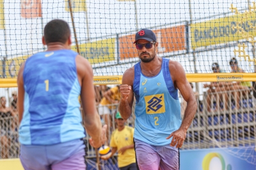
[[[164,94],[145,96],[146,113],[157,114],[165,112]]]

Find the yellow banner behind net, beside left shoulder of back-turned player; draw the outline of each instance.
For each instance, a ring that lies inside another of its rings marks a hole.
[[[20,66],[23,62],[25,62],[26,59],[28,59],[29,56],[30,55],[23,55],[6,60],[5,75],[7,76],[7,78],[16,78],[19,73]]]

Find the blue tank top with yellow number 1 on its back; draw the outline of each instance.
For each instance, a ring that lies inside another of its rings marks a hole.
[[[85,136],[76,56],[72,50],[57,50],[36,53],[26,60],[21,144],[54,145]]]

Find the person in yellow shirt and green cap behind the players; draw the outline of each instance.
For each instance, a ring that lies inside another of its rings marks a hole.
[[[109,157],[101,157],[101,159],[108,160],[118,152],[118,167],[120,170],[136,170],[136,159],[133,143],[134,128],[125,125],[120,113],[117,112],[115,116],[117,129],[111,136],[111,155]]]

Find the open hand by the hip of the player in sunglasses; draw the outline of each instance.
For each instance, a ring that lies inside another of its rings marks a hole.
[[[170,134],[170,136],[168,136],[166,139],[172,138],[170,146],[181,148],[184,140],[186,139],[186,133],[187,131],[185,129],[178,129],[177,131],[172,132],[172,134]]]

